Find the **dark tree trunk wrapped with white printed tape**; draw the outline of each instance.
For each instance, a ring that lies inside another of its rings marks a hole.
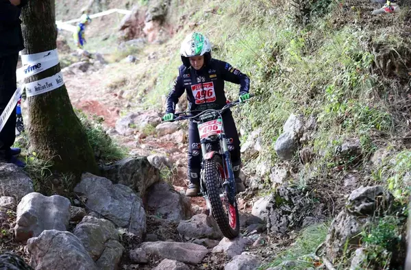
[[[23,55],[56,48],[55,3],[29,0],[22,10]],[[60,71],[60,64],[25,79],[36,82]],[[27,97],[29,143],[43,160],[52,160],[53,169],[75,175],[97,173],[97,164],[86,132],[73,111],[66,86]]]

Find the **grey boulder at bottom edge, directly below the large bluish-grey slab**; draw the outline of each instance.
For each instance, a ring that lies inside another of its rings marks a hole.
[[[117,269],[124,247],[111,221],[86,216],[74,230],[99,269]]]

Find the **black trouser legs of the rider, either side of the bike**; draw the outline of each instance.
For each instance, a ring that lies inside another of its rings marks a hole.
[[[236,123],[234,123],[230,111],[223,114],[223,123],[234,175],[238,177],[241,164],[240,139],[238,138]],[[199,184],[202,156],[197,124],[190,121],[188,124],[188,177],[192,184]]]

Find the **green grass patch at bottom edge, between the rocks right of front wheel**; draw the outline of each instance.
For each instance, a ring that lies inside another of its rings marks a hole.
[[[316,248],[325,241],[325,236],[327,236],[329,224],[315,224],[303,229],[295,243],[293,243],[288,249],[281,251],[275,260],[273,260],[268,265],[260,267],[260,270],[267,269],[269,267],[277,267],[284,262],[292,264],[292,268],[285,269],[295,269],[303,270],[308,267],[314,267],[313,254]]]

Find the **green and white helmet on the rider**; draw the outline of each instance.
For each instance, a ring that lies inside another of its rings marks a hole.
[[[211,60],[211,44],[206,36],[198,32],[188,34],[182,42],[180,55],[185,66],[190,66],[188,61],[192,56],[205,56],[205,62]]]

